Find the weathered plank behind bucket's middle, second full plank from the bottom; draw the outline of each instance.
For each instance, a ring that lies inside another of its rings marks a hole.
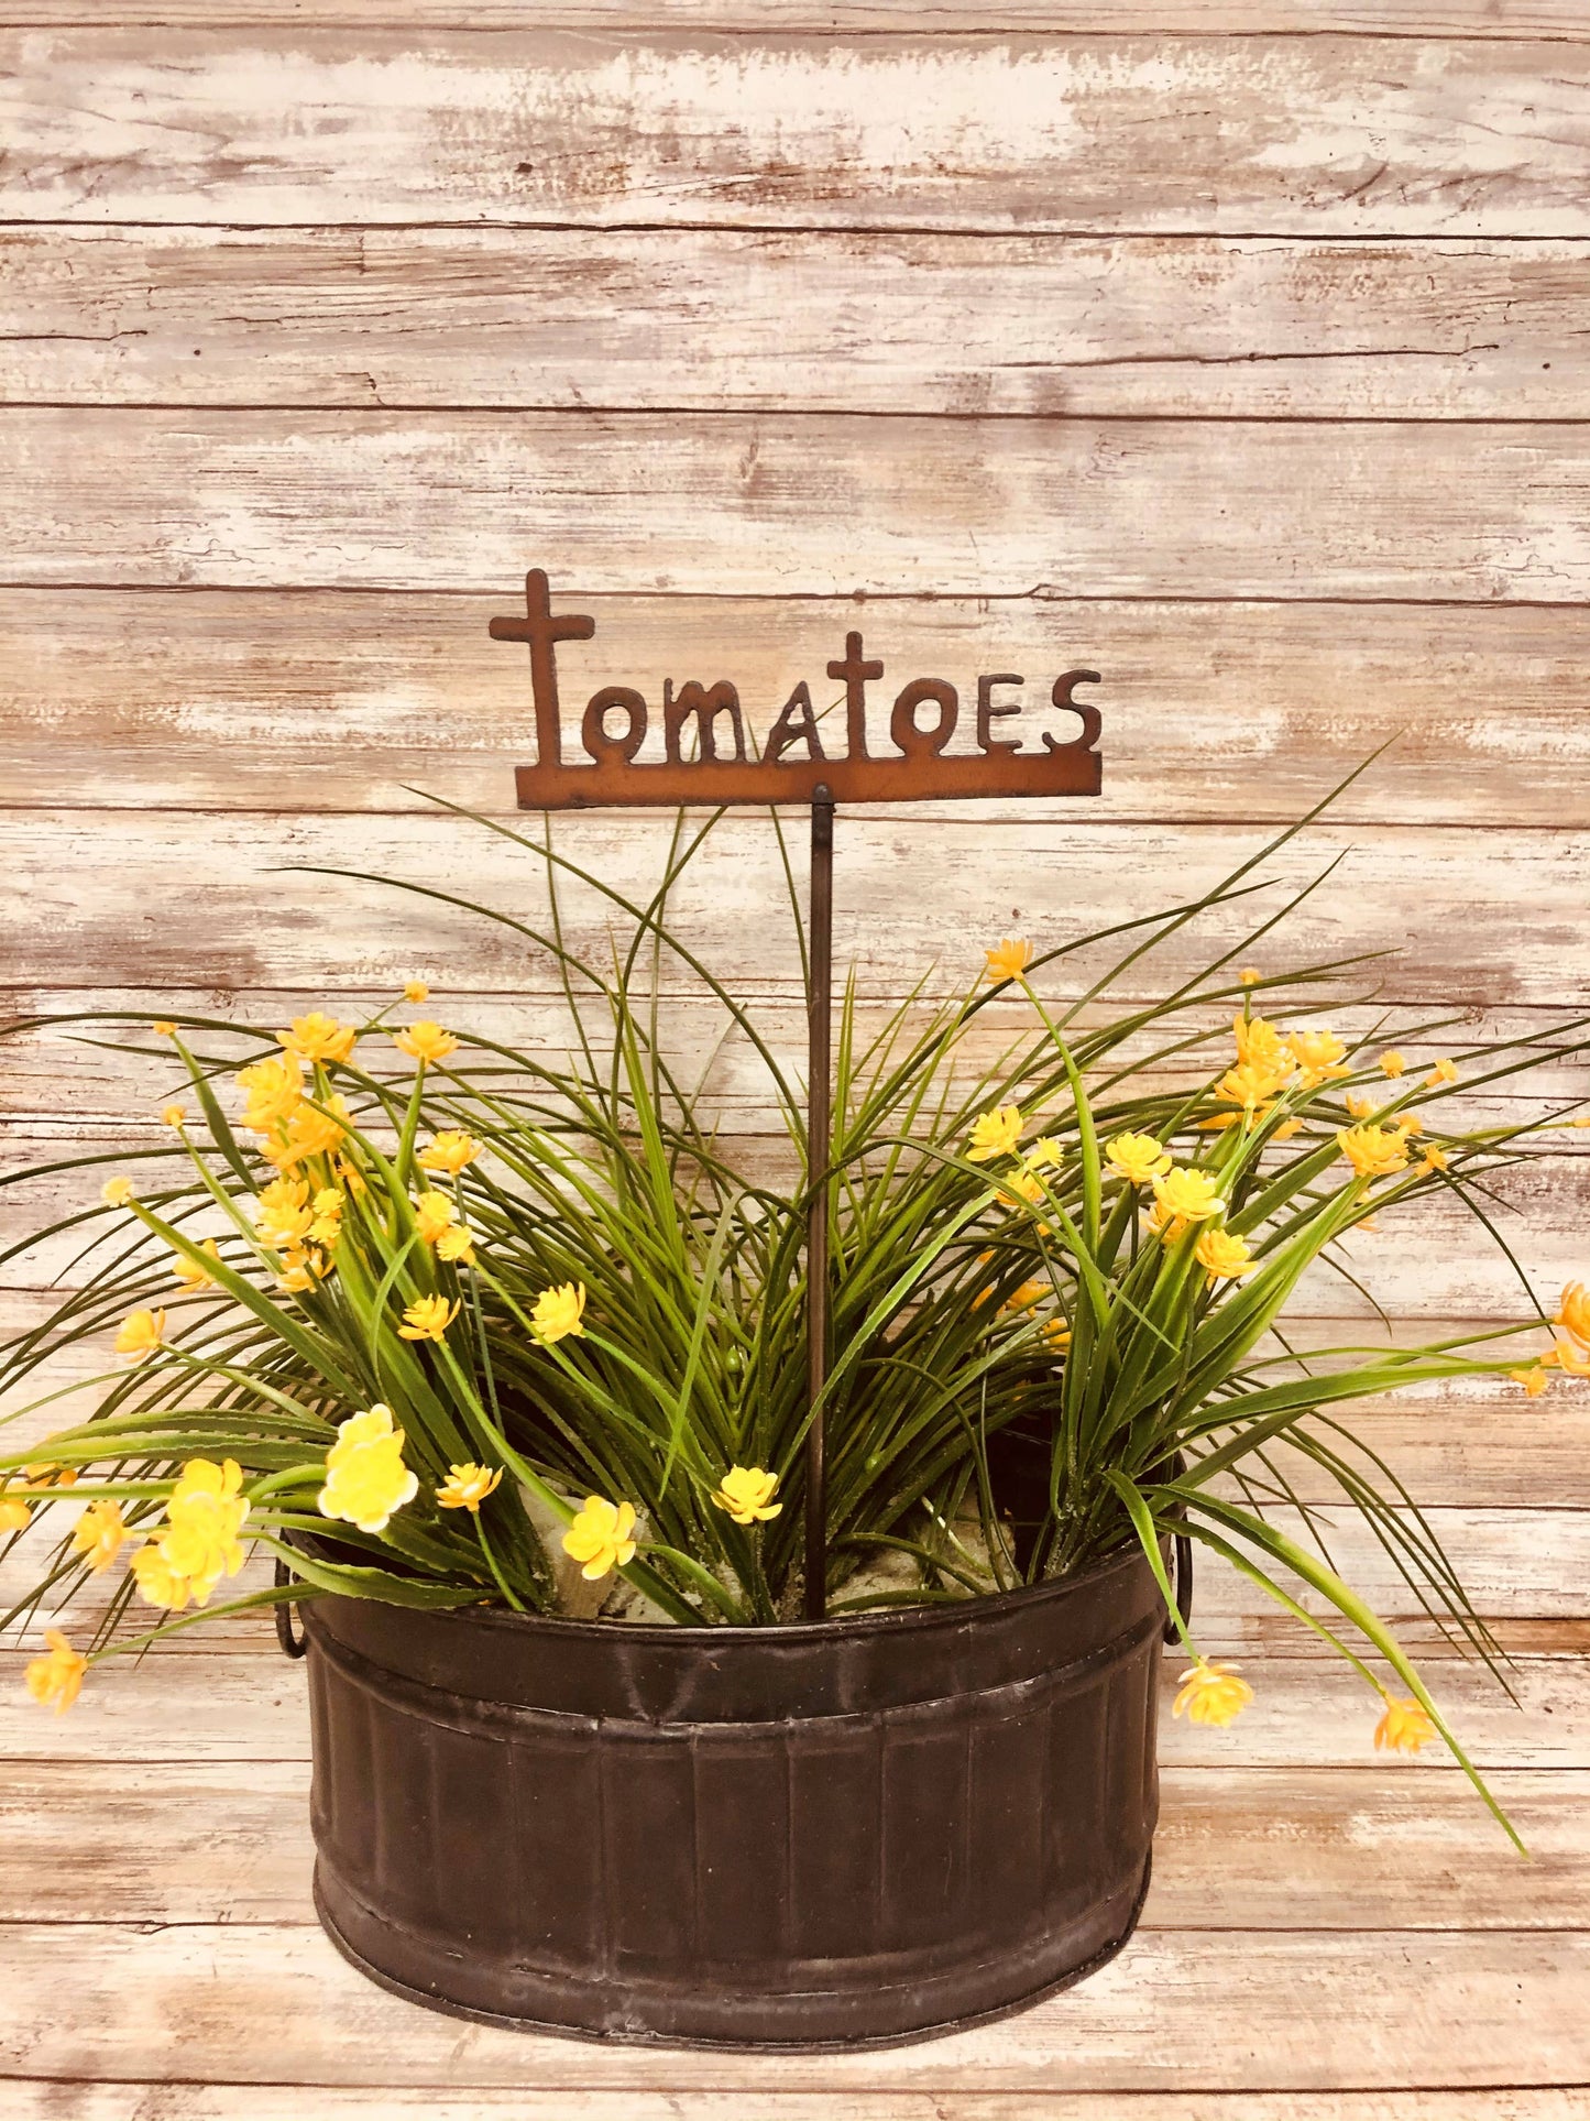
[[[1170,1769],[1143,1928],[1295,1930],[1300,1903],[1319,1930],[1584,1928],[1590,1775],[1503,1771],[1490,1786],[1529,1866],[1454,1775]],[[193,1845],[204,1816],[227,1820],[225,1871]],[[0,1881],[0,1926],[104,1922],[106,1879],[119,1922],[314,1922],[301,1760],[0,1760],[0,1824],[28,1850]]]

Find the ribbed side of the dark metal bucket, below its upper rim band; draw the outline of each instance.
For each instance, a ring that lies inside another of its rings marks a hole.
[[[318,1900],[409,1994],[608,2038],[878,2043],[1054,1987],[1134,1920],[1158,1606],[1058,1671],[767,1722],[481,1703],[307,1625]]]

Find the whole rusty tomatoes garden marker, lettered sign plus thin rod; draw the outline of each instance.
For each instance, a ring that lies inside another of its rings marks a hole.
[[[820,1620],[827,1608],[827,1466],[823,1436],[823,1387],[829,1374],[829,1137],[831,1137],[831,986],[833,986],[833,812],[835,804],[859,802],[943,802],[973,795],[1098,795],[1100,732],[1098,708],[1075,698],[1077,685],[1098,685],[1098,670],[1064,670],[1049,689],[1049,702],[1081,721],[1081,732],[1064,740],[1043,730],[1041,751],[1022,751],[1009,736],[994,736],[994,721],[1009,721],[1022,708],[996,700],[994,689],[1024,685],[1018,672],[994,670],[977,677],[975,751],[948,751],[960,719],[960,696],[941,677],[909,679],[895,694],[888,736],[895,755],[867,751],[867,685],[884,677],[880,655],[867,655],[859,632],[848,632],[844,655],[827,664],[827,674],[844,685],[846,755],[823,749],[812,689],[801,679],[778,711],[763,757],[746,749],[740,691],[729,679],[702,685],[687,679],[661,683],[664,757],[642,761],[651,730],[651,704],[634,685],[602,685],[585,702],[581,740],[589,764],[564,764],[562,702],[558,696],[558,645],[589,641],[596,619],[583,613],[553,613],[545,568],[524,577],[526,615],[492,619],[492,641],[524,641],[530,647],[530,694],[536,715],[536,764],[515,774],[522,810],[678,808],[681,804],[784,804],[812,808],[812,895],[808,944],[808,1224],[806,1224],[806,1385],[810,1425],[806,1432],[806,1618]],[[935,711],[929,728],[922,708]],[[613,734],[608,717],[623,717]],[[693,721],[693,755],[685,734]],[[719,725],[731,755],[719,751]],[[803,757],[791,757],[791,751]]]

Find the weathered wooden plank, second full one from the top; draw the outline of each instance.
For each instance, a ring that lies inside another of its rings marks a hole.
[[[1584,420],[1586,263],[1573,242],[13,227],[4,397]]]

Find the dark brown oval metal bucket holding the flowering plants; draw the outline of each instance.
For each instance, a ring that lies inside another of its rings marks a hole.
[[[1162,1620],[1136,1550],[801,1627],[318,1597],[320,1920],[416,2002],[608,2040],[1013,2011],[1136,1924]]]

